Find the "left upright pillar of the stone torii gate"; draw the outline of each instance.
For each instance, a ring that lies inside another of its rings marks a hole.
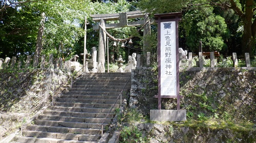
[[[103,19],[100,20],[100,26],[105,30],[105,22]],[[106,49],[106,34],[100,28],[99,30],[99,53],[98,53],[98,66],[102,64],[101,72],[105,72],[105,49]]]

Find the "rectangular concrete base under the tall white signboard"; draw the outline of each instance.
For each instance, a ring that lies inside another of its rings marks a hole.
[[[150,121],[186,121],[186,110],[150,110]]]

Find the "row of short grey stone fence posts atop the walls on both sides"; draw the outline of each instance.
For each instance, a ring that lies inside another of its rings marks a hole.
[[[244,57],[245,57],[244,67],[250,68],[255,65],[255,64],[251,65],[249,53],[245,53]],[[146,54],[137,54],[136,59],[137,59],[137,67],[153,67],[154,65],[157,65],[157,54],[151,54],[150,52],[146,52]],[[203,68],[207,66],[209,66],[210,68],[220,67],[218,66],[215,52],[210,52],[208,65],[206,65],[207,60],[205,60],[203,56],[203,52],[199,52],[197,59],[195,58],[193,59],[193,55],[191,52],[188,53],[188,58],[187,58],[187,55],[180,53],[179,59],[180,59],[179,67],[181,68],[193,69],[194,67]],[[237,53],[235,52],[232,53],[231,60],[232,60],[232,67],[239,67]],[[25,63],[23,62],[23,59],[19,59],[18,63],[16,63],[16,56],[13,56],[12,59],[7,57],[5,60],[0,58],[0,69],[26,70],[29,67],[40,68],[40,69],[45,69],[47,67],[49,69],[53,69],[55,72],[60,70],[60,71],[65,71],[67,73],[71,73],[74,71],[74,69],[77,70],[79,68],[79,65],[76,65],[76,64],[74,65],[73,62],[71,61],[66,61],[65,63],[63,63],[62,58],[53,58],[53,54],[49,56],[48,63],[46,62],[45,55],[41,55],[40,64],[39,64],[39,58],[37,58],[36,55],[34,56],[33,63],[31,63],[31,61],[32,61],[31,55],[27,56],[27,60]],[[256,60],[254,61],[256,63]],[[90,65],[90,62],[87,62],[87,64],[88,63]],[[94,67],[96,68],[96,66]]]

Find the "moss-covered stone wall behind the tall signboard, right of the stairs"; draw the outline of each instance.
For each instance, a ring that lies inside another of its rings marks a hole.
[[[191,68],[180,70],[181,109],[190,119],[224,118],[256,122],[256,68]],[[132,71],[130,107],[143,115],[157,109],[157,69]],[[176,99],[162,99],[162,109],[177,109]],[[188,115],[189,114],[189,115]],[[200,118],[201,117],[201,118]]]

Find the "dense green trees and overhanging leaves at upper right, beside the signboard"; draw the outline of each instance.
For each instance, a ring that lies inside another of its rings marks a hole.
[[[198,51],[201,40],[204,51],[255,54],[255,1],[141,0],[137,6],[153,14],[182,11],[180,36],[191,51]]]

